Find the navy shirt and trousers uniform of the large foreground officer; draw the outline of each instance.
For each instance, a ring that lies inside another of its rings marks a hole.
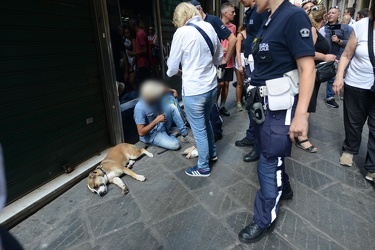
[[[314,56],[311,23],[306,13],[289,1],[284,1],[268,18],[257,35],[257,53],[251,84],[265,86],[266,80],[282,77],[297,69],[296,59]],[[289,110],[266,111],[262,125],[255,124],[257,147],[261,156],[258,161],[258,190],[254,203],[254,222],[267,228],[276,219],[283,185],[289,185],[285,173],[284,157],[291,154],[289,126],[294,116],[298,95]],[[265,98],[267,103],[267,98]],[[284,182],[284,184],[283,184]]]

